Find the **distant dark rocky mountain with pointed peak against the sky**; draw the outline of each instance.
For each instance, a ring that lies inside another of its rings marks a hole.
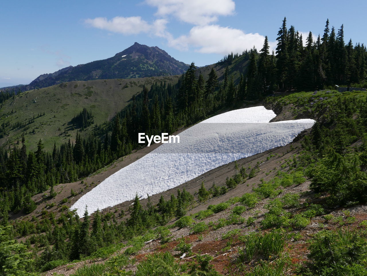
[[[62,82],[95,79],[128,79],[151,76],[172,76],[185,72],[188,65],[175,60],[157,46],[139,44],[128,47],[105,60],[69,66],[51,74],[43,74],[29,85],[0,88],[27,91],[57,85]]]

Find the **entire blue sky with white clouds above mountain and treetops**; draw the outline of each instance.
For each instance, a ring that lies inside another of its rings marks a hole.
[[[345,41],[367,43],[367,1],[1,1],[0,87],[28,84],[69,65],[101,60],[138,42],[197,66],[226,53],[275,46],[288,28],[322,35],[326,19]]]

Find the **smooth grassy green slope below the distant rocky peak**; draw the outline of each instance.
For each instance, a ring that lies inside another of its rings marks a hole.
[[[42,89],[30,90],[7,100],[0,109],[0,125],[6,126],[7,135],[0,139],[2,145],[17,144],[22,134],[26,138],[26,146],[34,150],[40,139],[46,150],[75,140],[77,129],[68,122],[87,108],[94,116],[94,124],[82,132],[88,135],[88,130],[95,124],[103,123],[117,111],[127,105],[134,94],[142,91],[143,85],[150,87],[154,82],[165,80],[176,83],[179,76],[149,77],[136,79],[108,79],[75,81],[62,83]],[[42,116],[38,117],[41,114]],[[43,115],[45,114],[45,115]],[[28,124],[29,120],[34,122]],[[25,126],[17,126],[17,123]]]

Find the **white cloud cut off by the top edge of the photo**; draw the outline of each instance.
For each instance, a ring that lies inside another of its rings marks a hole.
[[[157,7],[157,16],[173,15],[193,25],[207,25],[217,21],[219,15],[231,15],[235,11],[233,0],[146,0]]]

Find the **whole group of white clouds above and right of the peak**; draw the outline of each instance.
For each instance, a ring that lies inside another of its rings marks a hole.
[[[211,24],[218,20],[218,16],[233,14],[233,0],[145,0],[145,3],[157,8],[155,15],[159,18],[151,23],[140,16],[117,16],[112,19],[97,17],[88,18],[84,22],[112,33],[146,33],[149,36],[162,37],[167,39],[168,46],[175,49],[185,51],[193,48],[199,53],[207,54],[228,54],[232,51],[242,53],[254,46],[259,51],[264,44],[265,36],[258,33],[244,33],[240,29]],[[187,35],[174,38],[167,31],[169,16],[195,26]],[[269,42],[269,45],[271,53],[276,42]]]

